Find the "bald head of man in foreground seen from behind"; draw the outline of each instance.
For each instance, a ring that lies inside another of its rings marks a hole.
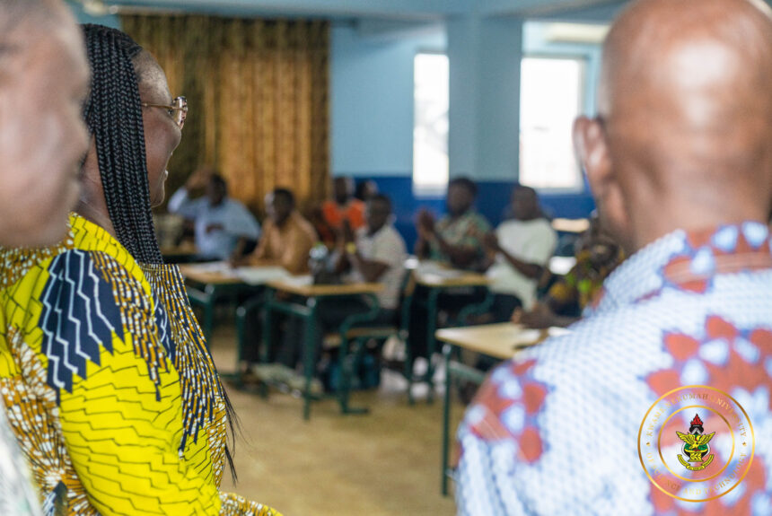
[[[750,0],[641,0],[604,46],[599,118],[577,149],[628,250],[772,205],[772,13]]]

